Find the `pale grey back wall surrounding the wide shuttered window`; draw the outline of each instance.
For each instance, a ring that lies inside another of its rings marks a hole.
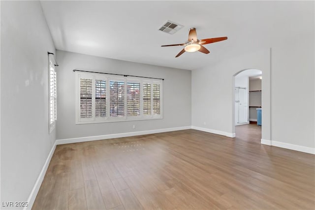
[[[191,71],[57,51],[57,139],[90,137],[191,125]],[[164,78],[163,119],[75,124],[73,69]],[[136,125],[133,129],[132,125]],[[64,129],[66,128],[66,129]]]

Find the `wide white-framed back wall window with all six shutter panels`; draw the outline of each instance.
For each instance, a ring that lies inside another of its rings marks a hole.
[[[162,119],[162,80],[75,72],[76,124]]]

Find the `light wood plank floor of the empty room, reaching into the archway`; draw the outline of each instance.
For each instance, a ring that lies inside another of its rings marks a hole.
[[[32,209],[314,210],[315,155],[241,126],[59,145]]]

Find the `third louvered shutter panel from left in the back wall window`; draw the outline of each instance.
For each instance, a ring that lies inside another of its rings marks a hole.
[[[125,116],[125,82],[110,81],[110,116]]]

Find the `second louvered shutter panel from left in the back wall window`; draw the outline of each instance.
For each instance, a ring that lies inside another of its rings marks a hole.
[[[106,80],[95,80],[95,118],[106,117]]]

